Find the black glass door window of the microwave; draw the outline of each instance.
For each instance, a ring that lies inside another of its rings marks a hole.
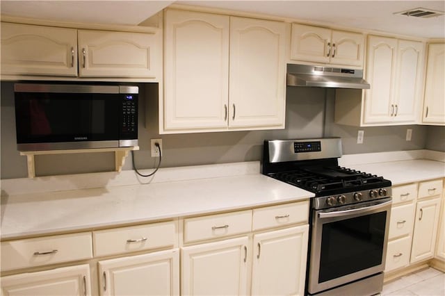
[[[119,94],[16,92],[18,143],[118,140]]]

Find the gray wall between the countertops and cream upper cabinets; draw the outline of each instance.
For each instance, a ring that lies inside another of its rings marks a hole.
[[[161,167],[258,161],[264,139],[318,138],[339,136],[343,154],[379,151],[432,149],[445,151],[444,126],[382,126],[357,128],[334,124],[334,90],[288,88],[286,129],[273,131],[234,131],[159,135],[157,84],[140,84],[139,146],[135,151],[138,168],[151,168],[157,158],[150,157],[149,140],[162,138]],[[147,118],[145,118],[147,106]],[[147,120],[148,129],[145,128]],[[412,141],[405,141],[406,129]],[[357,131],[364,130],[364,144],[357,145]],[[112,153],[36,156],[38,176],[106,172],[113,170]],[[127,158],[124,170],[131,170]],[[1,82],[1,179],[26,177],[26,157],[16,149],[13,83]]]

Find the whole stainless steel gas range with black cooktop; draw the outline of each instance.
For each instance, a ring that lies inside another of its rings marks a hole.
[[[391,181],[339,167],[341,139],[266,140],[263,174],[315,193],[308,295],[375,295],[383,286]]]

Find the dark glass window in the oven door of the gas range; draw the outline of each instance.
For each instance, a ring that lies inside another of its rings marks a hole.
[[[318,282],[382,264],[387,212],[323,224]]]

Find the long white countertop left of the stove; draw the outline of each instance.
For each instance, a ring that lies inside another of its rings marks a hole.
[[[313,197],[261,174],[2,197],[1,239],[92,230]]]

